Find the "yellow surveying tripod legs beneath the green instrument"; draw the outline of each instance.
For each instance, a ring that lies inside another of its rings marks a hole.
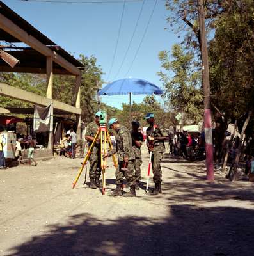
[[[86,154],[86,157],[84,157],[84,161],[82,163],[81,168],[79,169],[79,173],[77,174],[77,177],[75,179],[75,181],[72,183],[72,189],[75,188],[75,185],[77,184],[77,180],[79,179],[84,166],[86,166],[87,161],[90,159],[91,156],[91,152],[93,151],[93,147],[95,146],[95,144],[97,143],[97,140],[100,136],[100,168],[102,170],[102,195],[105,194],[105,189],[106,189],[106,175],[105,175],[105,171],[106,171],[106,159],[104,159],[104,155],[107,152],[107,143],[109,145],[109,149],[112,150],[112,143],[109,137],[109,133],[107,131],[107,126],[106,124],[100,124],[97,134],[95,135],[95,138],[93,139],[93,142],[91,143],[90,148],[88,149],[88,152]],[[116,162],[116,158],[115,155],[112,155],[112,159],[113,159],[113,163],[114,166],[117,166],[117,162]]]

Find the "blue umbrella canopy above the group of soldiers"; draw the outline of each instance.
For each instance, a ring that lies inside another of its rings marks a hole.
[[[126,78],[107,84],[98,95],[163,94],[163,90],[143,79]]]

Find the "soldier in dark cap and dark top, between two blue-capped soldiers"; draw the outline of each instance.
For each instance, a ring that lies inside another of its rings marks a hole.
[[[132,149],[134,151],[135,160],[134,160],[134,169],[135,169],[135,179],[136,179],[136,190],[139,189],[139,180],[141,180],[141,146],[144,141],[143,135],[141,132],[138,131],[139,122],[132,121],[132,131],[131,131],[131,138],[132,138]]]

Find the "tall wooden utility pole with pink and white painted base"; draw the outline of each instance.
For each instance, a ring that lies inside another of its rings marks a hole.
[[[207,166],[207,180],[214,180],[214,156],[212,143],[212,115],[210,111],[210,83],[209,83],[209,62],[207,51],[207,38],[205,35],[205,12],[203,0],[198,0],[198,20],[200,25],[200,41],[202,56],[202,84],[205,124],[205,155]]]

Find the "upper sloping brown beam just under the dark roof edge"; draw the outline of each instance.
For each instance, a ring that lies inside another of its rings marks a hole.
[[[55,51],[52,51],[46,45],[42,44],[39,40],[35,37],[29,35],[26,31],[21,29],[12,20],[7,19],[3,14],[0,13],[0,28],[9,33],[10,35],[14,36],[15,38],[19,39],[20,41],[28,44],[30,47],[35,49],[36,51],[40,52],[44,56],[51,56],[55,63],[58,63],[61,67],[65,68],[75,76],[79,76],[81,71],[79,68],[69,63],[65,58],[61,57]]]

